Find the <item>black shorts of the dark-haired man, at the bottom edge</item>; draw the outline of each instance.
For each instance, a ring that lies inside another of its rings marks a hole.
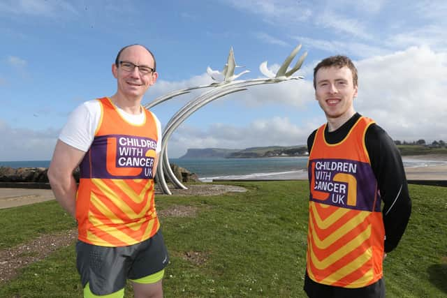
[[[342,288],[316,283],[309,278],[306,272],[304,290],[309,298],[385,298],[383,278],[363,288]]]

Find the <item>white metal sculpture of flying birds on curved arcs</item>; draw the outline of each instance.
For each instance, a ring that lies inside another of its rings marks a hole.
[[[174,114],[174,116],[168,121],[168,124],[166,124],[166,127],[163,131],[162,139],[161,139],[161,153],[160,153],[160,162],[159,166],[157,167],[156,172],[156,180],[159,183],[161,187],[161,191],[163,193],[171,195],[168,188],[168,184],[166,183],[165,174],[168,175],[168,179],[173,183],[173,185],[176,188],[183,188],[186,189],[186,187],[180,182],[177,177],[175,177],[175,174],[170,168],[169,158],[168,158],[168,140],[170,136],[173,134],[175,129],[182,124],[184,120],[186,120],[193,112],[196,112],[200,107],[203,107],[204,105],[207,105],[207,103],[212,102],[213,100],[217,100],[218,98],[221,98],[223,96],[226,96],[228,94],[232,94],[235,92],[240,92],[247,90],[247,87],[251,87],[258,84],[274,84],[278,82],[284,82],[286,80],[299,80],[303,77],[293,77],[292,75],[296,73],[302,66],[303,61],[307,57],[307,52],[302,54],[300,59],[298,59],[297,63],[291,70],[288,70],[288,67],[290,66],[291,62],[295,58],[296,54],[301,49],[301,45],[298,45],[293,49],[291,54],[286,58],[283,64],[279,67],[279,70],[277,73],[272,73],[271,70],[267,68],[267,61],[264,61],[260,66],[259,70],[261,70],[261,73],[265,75],[265,79],[253,79],[253,80],[242,80],[242,81],[235,81],[237,77],[240,77],[244,73],[248,73],[249,70],[244,70],[242,73],[239,73],[235,75],[235,68],[238,67],[235,64],[235,58],[234,58],[234,52],[233,47],[230,48],[230,53],[228,54],[228,59],[226,65],[223,67],[223,70],[221,72],[217,70],[212,70],[209,66],[207,67],[207,73],[212,77],[212,79],[216,82],[213,82],[209,85],[203,85],[198,87],[191,87],[188,89],[182,89],[178,91],[170,92],[169,94],[166,94],[165,96],[161,96],[159,98],[156,98],[151,103],[145,105],[146,108],[154,107],[155,105],[158,105],[159,103],[163,103],[164,101],[173,98],[175,96],[179,96],[182,94],[188,94],[193,89],[202,89],[202,88],[210,88],[213,87],[213,89],[209,91],[205,91],[203,94],[200,94],[193,100],[190,100],[186,105],[184,105],[178,112]]]

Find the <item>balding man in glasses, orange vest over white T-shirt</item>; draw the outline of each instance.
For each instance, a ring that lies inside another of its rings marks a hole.
[[[76,108],[48,170],[56,200],[78,221],[84,297],[163,297],[168,253],[154,206],[161,126],[141,100],[158,74],[152,52],[129,45],[112,64],[117,92]],[[80,166],[80,184],[73,170]]]

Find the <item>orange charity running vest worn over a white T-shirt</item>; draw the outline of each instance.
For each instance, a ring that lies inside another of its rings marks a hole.
[[[98,99],[101,120],[80,164],[76,198],[78,239],[98,246],[128,246],[152,237],[160,227],[154,205],[152,168],[156,122],[133,125],[109,98]]]

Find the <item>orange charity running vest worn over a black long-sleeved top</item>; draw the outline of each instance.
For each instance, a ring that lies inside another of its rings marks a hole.
[[[316,131],[309,155],[307,274],[313,281],[362,288],[382,276],[385,229],[365,146],[372,119],[361,117],[337,144]]]

